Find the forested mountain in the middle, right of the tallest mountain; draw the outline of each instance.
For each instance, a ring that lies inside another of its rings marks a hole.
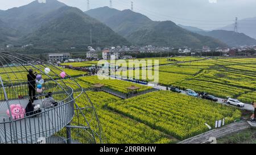
[[[131,10],[119,11],[109,7],[100,7],[86,11],[85,14],[105,23],[132,44],[171,45],[177,48],[184,46],[201,48],[204,45],[212,48],[227,46],[213,37],[187,31],[174,22],[155,22]]]

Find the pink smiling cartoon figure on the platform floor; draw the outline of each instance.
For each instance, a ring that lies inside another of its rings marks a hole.
[[[26,111],[20,104],[11,104],[10,106],[11,115],[13,116],[13,119],[22,119],[24,118],[24,115],[26,114]],[[6,111],[7,115],[10,116],[10,111]]]

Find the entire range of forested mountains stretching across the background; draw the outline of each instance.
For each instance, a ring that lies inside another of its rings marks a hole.
[[[57,0],[0,10],[0,46],[30,43],[38,48],[67,50],[131,44],[216,48],[252,45],[256,40],[232,31],[204,31],[171,21],[156,22],[131,10],[100,7],[82,12]]]

